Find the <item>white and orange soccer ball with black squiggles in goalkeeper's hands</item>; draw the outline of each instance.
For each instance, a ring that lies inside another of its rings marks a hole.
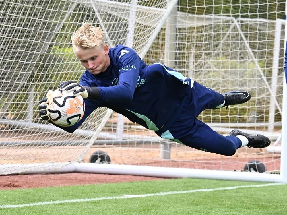
[[[48,97],[50,119],[59,126],[75,125],[85,112],[82,96],[74,96],[73,91],[55,90]]]

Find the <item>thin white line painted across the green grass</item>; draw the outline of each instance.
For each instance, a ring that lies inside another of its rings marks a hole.
[[[0,208],[22,208],[22,207],[28,207],[28,206],[63,204],[63,203],[74,203],[74,202],[91,202],[91,201],[110,200],[110,199],[131,199],[131,198],[150,197],[150,196],[173,195],[173,194],[196,193],[196,192],[211,192],[211,191],[218,191],[218,190],[232,190],[232,189],[248,188],[248,187],[267,187],[267,186],[276,186],[276,185],[286,185],[286,184],[284,184],[284,183],[269,183],[269,184],[261,184],[261,185],[219,187],[219,188],[213,188],[213,189],[198,189],[198,190],[148,193],[148,194],[142,194],[142,195],[133,195],[133,194],[125,195],[124,194],[123,196],[111,196],[111,197],[90,198],[90,199],[70,199],[70,200],[62,200],[62,201],[58,200],[58,201],[51,201],[51,202],[35,202],[35,203],[22,204],[22,205],[0,205]]]

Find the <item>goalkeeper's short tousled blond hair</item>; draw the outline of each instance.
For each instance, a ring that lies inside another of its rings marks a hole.
[[[71,36],[71,40],[74,52],[79,49],[101,49],[105,45],[105,34],[102,28],[94,27],[92,23],[85,22]]]

